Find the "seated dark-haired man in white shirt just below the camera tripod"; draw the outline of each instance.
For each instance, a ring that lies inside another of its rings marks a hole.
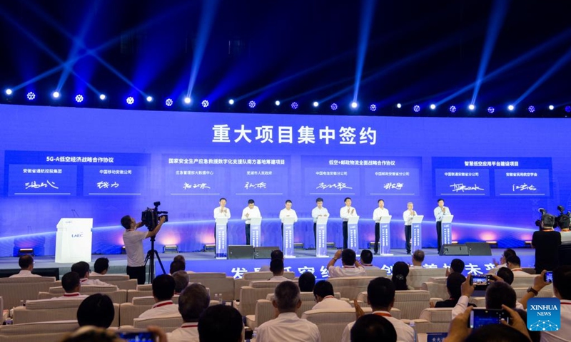
[[[143,312],[139,318],[180,316],[178,306],[173,303],[174,279],[169,274],[161,274],[153,280],[155,305]]]

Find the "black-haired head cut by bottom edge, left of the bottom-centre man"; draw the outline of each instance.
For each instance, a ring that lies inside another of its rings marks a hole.
[[[242,315],[232,306],[210,306],[198,319],[198,335],[201,342],[244,341],[243,330]]]

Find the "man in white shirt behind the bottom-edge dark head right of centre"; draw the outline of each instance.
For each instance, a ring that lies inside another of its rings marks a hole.
[[[406,265],[406,264],[405,264]],[[408,267],[408,265],[407,265]],[[414,342],[415,331],[408,324],[390,315],[390,309],[395,304],[395,284],[390,279],[379,277],[370,281],[367,286],[367,302],[373,310],[373,315],[383,316],[393,324],[399,342]],[[358,308],[355,308],[358,309]],[[349,323],[343,331],[343,342],[349,342],[350,331],[355,322]],[[384,340],[378,340],[384,341]]]

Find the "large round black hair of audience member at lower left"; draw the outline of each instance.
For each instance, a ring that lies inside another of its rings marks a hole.
[[[115,318],[113,301],[106,294],[92,294],[84,299],[77,308],[79,326],[98,326],[108,328]]]

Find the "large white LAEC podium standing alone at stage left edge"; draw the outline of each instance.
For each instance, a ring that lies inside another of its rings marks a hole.
[[[56,227],[56,262],[90,262],[94,219],[64,218]]]

